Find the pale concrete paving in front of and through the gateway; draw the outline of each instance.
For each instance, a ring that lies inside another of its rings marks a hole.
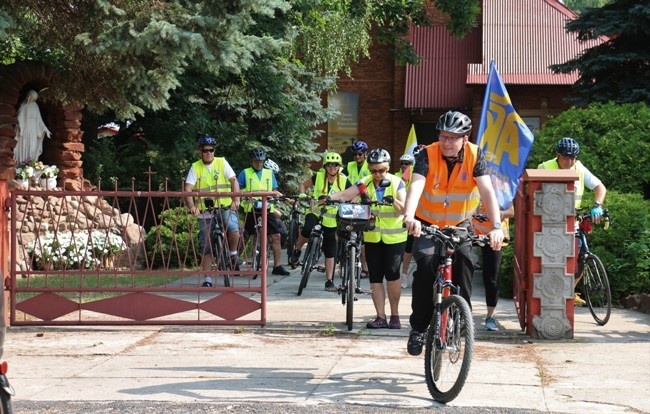
[[[259,402],[288,404],[294,412],[328,403],[441,407],[427,391],[422,357],[406,352],[410,288],[400,303],[401,330],[366,329],[374,317],[367,296],[356,303],[355,329],[348,332],[340,297],[323,291],[324,275],[314,273],[300,297],[298,282],[297,270],[269,275],[264,328],[9,328],[3,359],[15,405]],[[363,283],[367,287],[367,279]],[[650,315],[615,309],[600,327],[587,308],[576,309],[575,339],[532,341],[521,332],[510,300],[499,302],[500,330],[484,331],[483,294],[477,275],[474,360],[449,407],[650,412]]]

